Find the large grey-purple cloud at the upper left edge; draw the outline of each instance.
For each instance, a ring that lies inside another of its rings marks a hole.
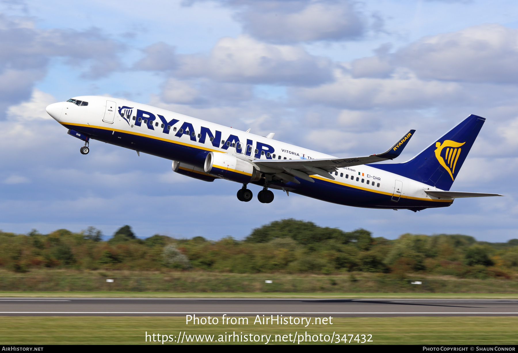
[[[27,99],[36,81],[47,73],[51,58],[87,66],[84,78],[99,78],[121,67],[122,43],[96,29],[86,31],[37,28],[34,18],[0,13],[0,117],[5,109]]]

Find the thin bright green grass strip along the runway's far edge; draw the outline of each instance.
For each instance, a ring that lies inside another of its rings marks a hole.
[[[0,298],[379,298],[518,299],[518,293],[175,293],[175,292],[0,292]]]

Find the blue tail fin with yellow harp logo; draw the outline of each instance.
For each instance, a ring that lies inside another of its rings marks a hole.
[[[409,161],[369,166],[450,190],[484,122],[483,117],[471,114]]]

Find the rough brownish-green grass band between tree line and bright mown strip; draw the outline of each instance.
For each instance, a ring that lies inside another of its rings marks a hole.
[[[107,279],[114,282],[106,282]],[[273,283],[265,283],[272,280]],[[421,282],[421,285],[412,282]],[[379,273],[287,274],[260,273],[237,274],[208,271],[79,271],[34,270],[30,273],[12,273],[0,269],[0,290],[5,292],[162,292],[168,296],[177,293],[518,293],[518,279],[455,278],[409,274],[395,278]],[[353,294],[357,293],[357,294]],[[389,294],[390,295],[390,294]],[[374,296],[377,296],[376,294]]]

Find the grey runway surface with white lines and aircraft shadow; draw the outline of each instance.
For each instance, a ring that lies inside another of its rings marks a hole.
[[[518,316],[518,300],[2,298],[3,316]]]

